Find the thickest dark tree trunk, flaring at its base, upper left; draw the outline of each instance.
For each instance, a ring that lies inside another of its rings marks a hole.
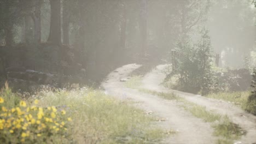
[[[61,0],[50,0],[51,22],[48,42],[61,45]]]

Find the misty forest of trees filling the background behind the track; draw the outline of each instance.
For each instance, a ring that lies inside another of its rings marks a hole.
[[[206,37],[202,57],[218,54],[219,67],[256,63],[247,0],[2,0],[0,11],[2,79],[97,83],[124,64],[173,62]]]

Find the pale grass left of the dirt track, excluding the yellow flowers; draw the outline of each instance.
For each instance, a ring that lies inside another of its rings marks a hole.
[[[19,96],[10,90],[5,89],[0,95],[5,99],[5,107],[11,109],[19,104]],[[143,111],[127,102],[117,101],[94,89],[39,92],[34,98],[26,100],[27,106],[32,106],[34,99],[39,100],[38,109],[42,107],[45,112],[42,121],[51,118],[51,114],[48,116],[46,111],[53,106],[57,109],[56,113],[65,111],[65,115],[60,114],[62,119],[72,118],[65,135],[55,134],[49,143],[159,143],[165,136],[161,129],[150,126],[154,118],[144,115]],[[0,116],[0,119],[3,117]],[[33,129],[27,127],[26,131]],[[21,137],[18,133],[9,135]],[[48,139],[49,136],[45,136]],[[65,136],[68,139],[61,141]],[[29,139],[27,137],[25,142]]]

